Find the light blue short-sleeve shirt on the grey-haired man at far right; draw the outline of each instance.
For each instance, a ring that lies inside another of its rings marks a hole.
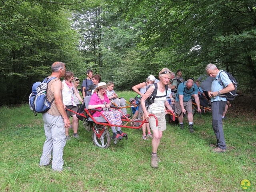
[[[214,80],[212,81],[212,92],[220,91],[224,87],[228,86],[228,84],[232,83],[225,72],[222,72],[221,74],[220,72],[222,71],[219,71],[216,78],[214,78]],[[220,84],[219,77],[222,80],[222,84],[224,87]],[[220,97],[220,96],[211,97],[211,102],[220,101],[220,100],[227,101],[227,99],[224,97]]]

